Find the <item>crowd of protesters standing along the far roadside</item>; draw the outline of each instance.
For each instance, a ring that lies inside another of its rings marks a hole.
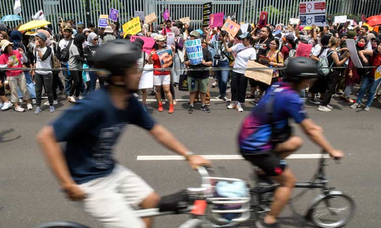
[[[25,109],[20,103],[25,102],[29,110],[35,104],[35,113],[38,114],[41,111],[41,100],[46,97],[48,101],[44,105],[54,112],[58,95],[66,95],[69,102],[76,103],[78,99],[93,92],[98,83],[99,87],[104,87],[105,83],[98,80],[97,72],[83,69],[93,68],[94,56],[102,44],[115,39],[130,40],[132,35],[124,34],[118,22],[111,23],[106,28],[97,28],[94,24],[85,28],[82,22],[68,20],[59,23],[59,28],[58,32],[54,32],[51,28],[43,27],[27,35],[0,24],[0,67],[33,68],[30,71],[0,70],[2,110],[14,107],[16,111],[23,112]],[[296,49],[301,43],[312,45],[309,56],[312,60],[319,63],[326,60],[329,67],[344,66],[327,69],[310,88],[301,91],[301,96],[307,97],[308,102],[318,105],[317,110],[331,111],[330,101],[333,96],[353,103],[351,108],[361,107],[362,99],[367,96],[364,110],[370,109],[374,99],[381,101],[381,89],[378,88],[381,79],[374,78],[376,67],[381,65],[381,34],[370,31],[366,25],[359,26],[350,22],[333,24],[332,21],[328,26],[322,27],[302,27],[300,23],[262,26],[251,24],[247,31],[239,30],[235,36],[220,27],[200,26],[194,29],[189,23],[176,20],[167,20],[155,26],[142,22],[141,28],[142,31],[136,35],[152,37],[155,42],[150,54],[142,51],[139,68],[143,68],[145,64],[153,64],[154,88],[150,95],[155,95],[158,111],[164,110],[163,105],[167,101],[168,112],[174,112],[177,105],[175,88],[179,85],[174,79],[186,73],[188,113],[194,112],[194,105],[199,101],[202,111],[211,111],[208,108],[209,80],[214,80],[211,82],[212,88],[218,87],[216,99],[230,102],[227,103],[227,108],[241,112],[245,99],[258,102],[269,88],[263,82],[245,77],[243,68],[247,67],[248,60],[273,68],[272,83],[281,81],[282,70],[276,68],[287,66],[289,59],[295,57]],[[175,44],[167,47],[168,32],[175,34]],[[196,39],[201,39],[203,61],[198,65],[191,65],[184,41]],[[373,67],[354,66],[346,39],[355,40],[362,65]],[[135,42],[143,50],[144,41],[138,38]],[[171,65],[163,67],[157,51],[167,48],[172,49],[173,59]],[[210,67],[231,70],[212,70]],[[60,80],[59,71],[40,68],[68,68],[69,70],[62,71],[65,83]],[[163,71],[160,68],[173,70]],[[187,68],[197,70],[187,71]],[[360,89],[355,90],[356,85],[360,85]],[[10,91],[11,100],[5,96],[5,89]],[[141,93],[143,104],[146,105],[147,90],[141,90]]]

